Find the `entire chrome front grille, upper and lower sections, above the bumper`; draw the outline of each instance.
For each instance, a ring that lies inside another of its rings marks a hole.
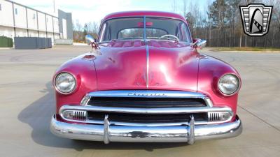
[[[72,110],[73,119],[64,117]],[[64,105],[59,114],[63,119],[87,124],[103,124],[104,116],[114,125],[169,126],[188,125],[190,117],[195,124],[214,124],[230,121],[223,112],[232,115],[230,107],[213,107],[209,97],[190,91],[94,91],[85,95],[80,105]],[[226,115],[226,114],[225,114]]]

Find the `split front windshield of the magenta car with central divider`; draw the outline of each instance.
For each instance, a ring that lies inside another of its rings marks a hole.
[[[181,20],[164,17],[125,17],[107,20],[102,24],[99,42],[130,39],[178,40],[191,43],[188,27]]]

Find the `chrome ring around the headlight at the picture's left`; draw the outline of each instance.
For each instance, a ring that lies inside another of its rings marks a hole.
[[[69,90],[62,90],[61,88],[59,88],[59,86],[57,84],[57,79],[59,78],[59,76],[65,75],[65,74],[71,76],[72,79],[73,79],[73,82],[74,82],[73,87],[71,87],[71,89],[69,89]],[[53,80],[53,84],[54,84],[55,90],[57,92],[59,92],[59,94],[67,95],[67,94],[72,94],[73,91],[75,91],[75,89],[77,87],[77,80],[76,80],[76,77],[73,74],[71,74],[69,72],[62,72],[62,73],[58,73],[57,75],[55,75],[55,79]]]

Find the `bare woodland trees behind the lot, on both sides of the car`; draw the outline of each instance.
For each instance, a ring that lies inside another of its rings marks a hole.
[[[239,6],[248,3],[264,3],[273,6],[269,32],[262,37],[244,33]],[[280,47],[280,1],[279,0],[207,0],[202,8],[198,1],[173,0],[171,9],[188,21],[194,38],[207,40],[209,47]],[[99,24],[73,22],[73,39],[84,42],[90,33],[97,38]]]

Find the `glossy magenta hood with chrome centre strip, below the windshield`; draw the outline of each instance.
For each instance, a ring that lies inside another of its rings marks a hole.
[[[95,53],[97,90],[197,91],[199,54],[186,43],[113,41]]]

